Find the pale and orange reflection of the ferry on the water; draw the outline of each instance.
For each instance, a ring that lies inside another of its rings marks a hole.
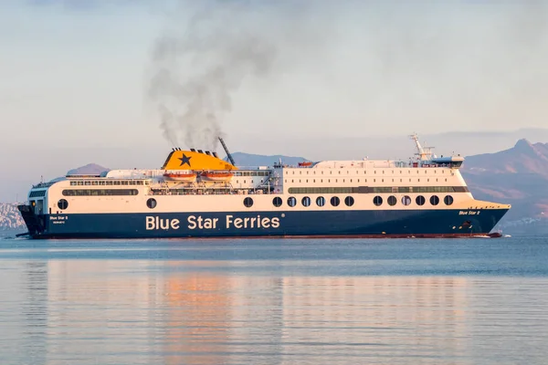
[[[366,350],[458,364],[469,346],[469,278],[253,276],[238,265],[248,264],[50,262],[47,362],[326,363]]]

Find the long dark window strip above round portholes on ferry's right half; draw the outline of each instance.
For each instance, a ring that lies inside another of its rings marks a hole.
[[[289,188],[289,193],[468,193],[467,186],[354,186]]]

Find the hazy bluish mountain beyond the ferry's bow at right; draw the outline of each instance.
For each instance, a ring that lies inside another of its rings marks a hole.
[[[462,174],[478,199],[511,203],[504,224],[548,224],[548,143],[518,141],[509,150],[469,156]]]

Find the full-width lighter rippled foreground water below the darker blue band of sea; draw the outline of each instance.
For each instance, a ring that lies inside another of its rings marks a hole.
[[[260,263],[236,261],[9,264],[16,280],[0,286],[0,321],[14,331],[1,335],[10,345],[0,349],[14,363],[499,364],[548,356],[545,278],[250,275],[245,267]],[[7,350],[14,346],[24,352]]]

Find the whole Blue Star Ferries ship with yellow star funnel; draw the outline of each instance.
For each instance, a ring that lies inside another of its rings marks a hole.
[[[161,169],[37,183],[19,205],[32,238],[477,237],[509,204],[474,199],[460,155],[237,167],[174,148]]]

